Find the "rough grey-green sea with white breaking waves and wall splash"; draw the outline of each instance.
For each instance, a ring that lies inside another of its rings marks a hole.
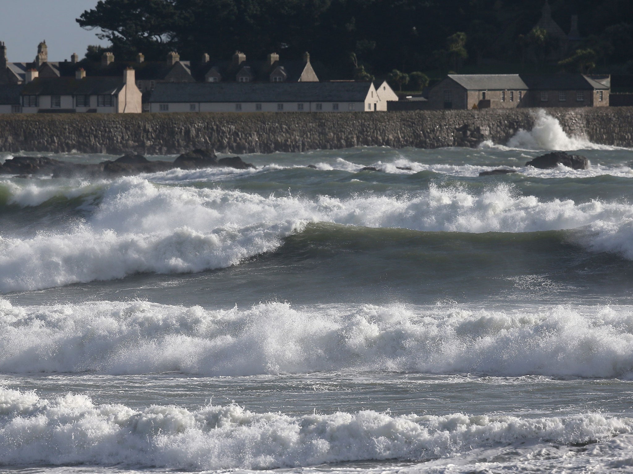
[[[0,178],[0,471],[633,471],[633,150],[242,158]]]

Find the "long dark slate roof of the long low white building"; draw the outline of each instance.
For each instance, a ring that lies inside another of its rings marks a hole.
[[[148,102],[364,102],[370,82],[157,83]]]

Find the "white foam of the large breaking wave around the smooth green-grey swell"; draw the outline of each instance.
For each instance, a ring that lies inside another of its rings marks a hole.
[[[278,248],[285,237],[302,231],[308,222],[468,233],[574,229],[591,224],[595,237],[586,244],[589,248],[621,252],[633,220],[629,204],[542,202],[518,195],[506,185],[477,194],[430,185],[415,197],[309,199],[158,186],[136,177],[119,179],[101,193],[94,212],[72,231],[42,231],[30,238],[0,236],[0,291],[51,288],[137,272],[229,267]],[[22,204],[32,204],[34,199],[27,193]]]

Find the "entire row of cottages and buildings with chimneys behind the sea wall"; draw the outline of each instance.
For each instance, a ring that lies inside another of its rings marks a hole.
[[[206,66],[205,66],[206,64]],[[3,68],[4,66],[4,68]],[[197,72],[194,72],[197,71]],[[196,80],[197,76],[198,79]],[[419,109],[608,106],[608,76],[449,75],[432,88]],[[49,63],[46,42],[32,63],[8,63],[0,42],[0,113],[61,112],[374,112],[394,109],[398,95],[387,82],[320,82],[310,64],[247,62],[236,52],[226,63],[180,61]],[[406,108],[406,100],[398,108]]]

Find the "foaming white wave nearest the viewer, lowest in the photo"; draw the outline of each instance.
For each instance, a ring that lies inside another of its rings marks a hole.
[[[235,404],[189,411],[44,399],[0,387],[0,464],[126,465],[191,470],[272,469],[365,460],[425,460],[521,442],[577,444],[624,437],[628,418],[519,418],[375,411],[289,416]]]

